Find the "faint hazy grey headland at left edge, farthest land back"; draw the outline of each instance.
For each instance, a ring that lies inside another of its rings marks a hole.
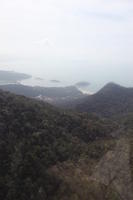
[[[18,83],[24,79],[31,78],[31,75],[14,71],[0,70],[0,83]]]

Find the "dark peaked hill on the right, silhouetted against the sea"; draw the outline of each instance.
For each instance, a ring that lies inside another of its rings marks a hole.
[[[99,92],[84,98],[76,109],[81,112],[94,112],[104,117],[133,112],[133,88],[108,83]]]

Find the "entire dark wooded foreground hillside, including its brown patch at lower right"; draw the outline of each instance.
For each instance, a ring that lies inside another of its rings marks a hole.
[[[0,91],[0,199],[132,200],[133,113],[97,114]]]

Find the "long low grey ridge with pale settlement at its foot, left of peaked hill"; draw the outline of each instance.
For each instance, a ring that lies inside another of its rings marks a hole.
[[[86,95],[78,90],[75,86],[68,87],[31,87],[22,84],[0,85],[0,89],[12,92],[14,94],[24,95],[36,98],[56,106],[65,107]]]

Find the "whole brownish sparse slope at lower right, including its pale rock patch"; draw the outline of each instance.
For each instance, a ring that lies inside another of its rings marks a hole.
[[[122,136],[100,161],[54,166],[52,173],[64,184],[58,200],[133,200],[130,153],[130,139]]]

